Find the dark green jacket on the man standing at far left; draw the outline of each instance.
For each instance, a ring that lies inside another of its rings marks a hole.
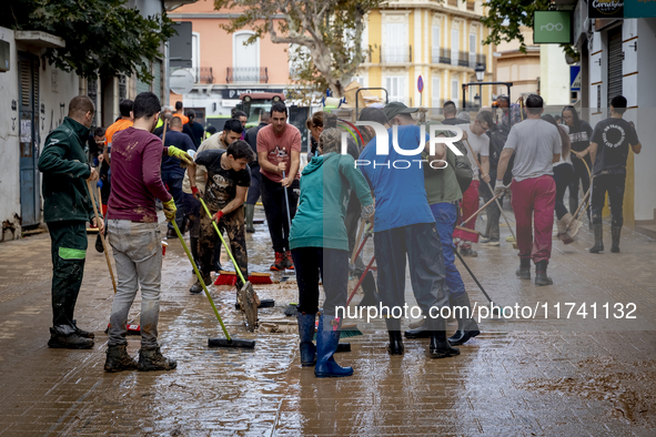
[[[91,222],[94,217],[85,181],[91,174],[84,153],[88,136],[89,128],[67,116],[46,139],[39,157],[46,223]]]

